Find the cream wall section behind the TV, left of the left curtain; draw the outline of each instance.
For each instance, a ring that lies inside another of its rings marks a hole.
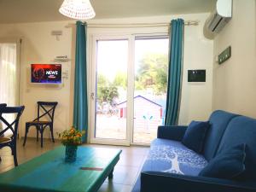
[[[31,84],[30,64],[53,63],[57,55],[71,57],[72,28],[67,28],[67,22],[42,22],[15,25],[1,25],[0,37],[22,38],[20,52],[20,104],[25,105],[21,119],[20,135],[24,136],[25,122],[36,117],[38,101],[59,102],[55,110],[55,131],[67,129],[70,125],[70,72],[72,62],[61,63],[62,71],[69,73],[69,79],[62,79],[63,84]],[[61,30],[63,35],[57,41],[51,36],[52,30]],[[32,129],[35,130],[35,129]],[[49,137],[49,131],[44,131]],[[29,136],[36,136],[34,131]]]

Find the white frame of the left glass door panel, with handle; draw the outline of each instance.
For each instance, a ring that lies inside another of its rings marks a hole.
[[[127,118],[126,118],[126,139],[106,139],[96,138],[95,119],[96,119],[96,42],[99,40],[128,40],[128,63],[127,63]],[[133,86],[134,86],[134,51],[133,51],[134,37],[131,35],[93,35],[91,48],[92,57],[90,65],[90,143],[97,144],[113,144],[130,146],[132,140],[133,127]]]

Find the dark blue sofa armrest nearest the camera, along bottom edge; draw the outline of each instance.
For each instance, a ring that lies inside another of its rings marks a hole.
[[[168,172],[142,172],[141,192],[255,192],[236,181],[212,177],[194,177]]]

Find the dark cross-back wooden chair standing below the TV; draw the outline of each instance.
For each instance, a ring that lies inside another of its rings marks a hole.
[[[26,122],[26,132],[25,132],[25,138],[23,146],[26,144],[26,136],[28,133],[28,130],[31,126],[35,126],[37,129],[37,141],[38,141],[38,132],[41,134],[41,148],[43,148],[43,134],[44,129],[46,127],[49,127],[52,142],[55,143],[55,138],[53,134],[53,124],[54,124],[54,115],[55,115],[55,108],[57,106],[58,102],[38,102],[38,117],[36,119],[33,119],[32,121]],[[40,115],[41,110],[43,110],[43,114]],[[47,118],[49,120],[40,120],[42,118]]]

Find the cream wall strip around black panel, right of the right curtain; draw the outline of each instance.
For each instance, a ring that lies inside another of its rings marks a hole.
[[[191,120],[207,120],[212,113],[213,42],[203,36],[207,16],[198,17],[199,26],[185,26],[180,125],[188,125]],[[206,69],[206,82],[188,83],[189,69]]]

